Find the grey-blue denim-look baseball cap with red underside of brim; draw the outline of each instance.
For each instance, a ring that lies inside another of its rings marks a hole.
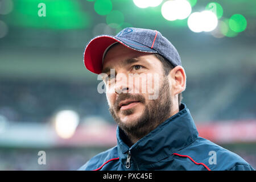
[[[135,51],[158,53],[170,61],[174,67],[181,65],[176,48],[159,31],[130,27],[123,29],[115,36],[100,35],[91,39],[84,49],[85,67],[90,72],[100,74],[106,51],[117,42]]]

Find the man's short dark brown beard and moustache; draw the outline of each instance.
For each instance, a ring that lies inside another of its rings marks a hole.
[[[141,116],[130,123],[123,123],[116,114],[118,111],[120,111],[123,115],[130,115],[135,112],[134,108],[120,110],[120,107],[118,106],[119,102],[126,99],[136,100],[145,105]],[[114,106],[109,107],[109,112],[114,118],[115,122],[117,122],[118,126],[128,137],[140,139],[170,117],[172,101],[170,85],[167,78],[164,79],[159,88],[158,98],[156,100],[147,101],[148,104],[146,105],[146,99],[142,94],[121,93],[115,101]]]

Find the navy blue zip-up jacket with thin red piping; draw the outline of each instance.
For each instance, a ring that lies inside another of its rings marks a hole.
[[[185,104],[179,113],[128,147],[117,127],[117,146],[79,170],[254,170],[237,154],[201,138]]]

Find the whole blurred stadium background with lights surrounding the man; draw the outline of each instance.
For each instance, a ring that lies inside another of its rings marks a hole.
[[[199,135],[256,168],[256,1],[177,1],[0,0],[0,170],[76,170],[116,145],[82,53],[125,27],[174,44]],[[214,16],[195,14],[204,10]]]

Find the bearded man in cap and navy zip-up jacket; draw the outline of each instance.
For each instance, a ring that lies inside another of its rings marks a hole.
[[[125,28],[90,40],[85,67],[105,82],[117,146],[80,170],[254,170],[240,156],[199,137],[181,92],[179,53],[160,32]],[[137,80],[137,81],[136,81]]]

